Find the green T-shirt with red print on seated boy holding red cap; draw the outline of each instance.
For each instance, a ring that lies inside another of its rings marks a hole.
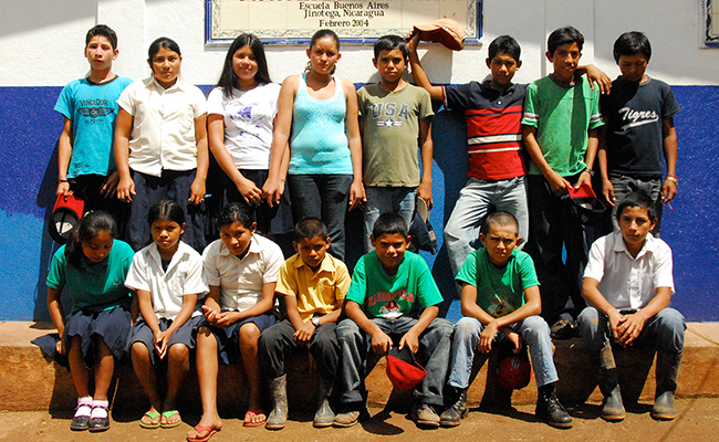
[[[387,275],[377,252],[362,256],[346,298],[359,304],[367,317],[385,319],[419,317],[424,308],[442,302],[427,263],[409,251],[394,276]]]

